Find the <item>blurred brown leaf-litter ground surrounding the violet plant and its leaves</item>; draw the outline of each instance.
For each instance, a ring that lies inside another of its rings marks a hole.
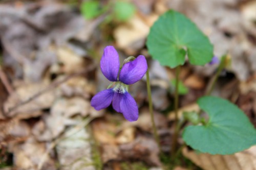
[[[168,153],[175,74],[151,58],[145,41],[150,27],[169,9],[194,21],[214,44],[217,57],[228,55],[229,65],[213,94],[237,104],[255,127],[256,1],[2,0],[0,169],[255,169],[255,149],[217,158],[184,148],[175,163],[167,156],[160,159],[145,78],[130,87],[139,106],[137,122],[127,122],[112,107],[91,107],[92,96],[110,84],[99,67],[106,45],[115,46],[121,63],[144,55],[162,150]],[[217,67],[182,66],[181,111],[198,109],[195,102]]]

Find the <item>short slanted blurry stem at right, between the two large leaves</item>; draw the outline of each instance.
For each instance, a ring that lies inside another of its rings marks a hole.
[[[217,82],[217,80],[218,80],[218,78],[219,78],[219,76],[220,76],[220,74],[221,74],[221,71],[223,70],[223,68],[225,67],[225,65],[226,65],[226,55],[225,56],[223,56],[222,58],[221,58],[221,63],[219,64],[219,67],[218,67],[218,69],[217,69],[217,72],[216,72],[216,74],[214,75],[214,77],[212,77],[212,79],[210,80],[210,83],[209,83],[209,85],[208,85],[208,87],[207,87],[207,90],[206,90],[206,92],[205,92],[205,95],[210,95],[211,94],[211,92],[212,92],[212,90],[214,89],[214,86],[215,86],[215,84],[216,84],[216,82]]]

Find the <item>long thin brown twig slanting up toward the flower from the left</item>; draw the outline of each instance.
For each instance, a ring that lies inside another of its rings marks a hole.
[[[18,107],[20,107],[20,106],[22,106],[22,105],[25,105],[25,104],[27,104],[27,103],[33,101],[34,99],[38,98],[40,95],[44,94],[45,92],[47,92],[47,91],[49,91],[49,90],[51,90],[51,89],[53,89],[53,88],[56,88],[56,87],[59,86],[60,84],[65,83],[66,81],[72,79],[73,77],[76,77],[76,76],[79,76],[79,75],[83,75],[83,74],[86,74],[86,73],[89,72],[89,71],[92,71],[95,67],[96,67],[96,66],[95,66],[94,64],[93,64],[93,65],[90,65],[86,70],[82,70],[82,71],[80,71],[80,72],[76,72],[76,73],[74,73],[74,74],[72,74],[72,75],[67,76],[66,78],[64,78],[64,79],[62,79],[62,80],[60,80],[60,81],[55,81],[55,82],[53,82],[53,83],[50,84],[48,87],[46,87],[45,89],[43,89],[43,90],[37,92],[36,94],[32,95],[32,96],[31,96],[30,98],[28,98],[27,100],[22,101],[22,102],[18,103],[17,105],[15,105],[14,107],[10,108],[10,109],[8,110],[7,114],[10,113],[10,112],[12,112],[12,111],[14,111],[14,110],[16,110]]]

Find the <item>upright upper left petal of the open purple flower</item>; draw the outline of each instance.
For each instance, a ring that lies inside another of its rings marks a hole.
[[[100,60],[100,69],[109,81],[116,82],[119,72],[119,56],[114,46],[106,46]]]

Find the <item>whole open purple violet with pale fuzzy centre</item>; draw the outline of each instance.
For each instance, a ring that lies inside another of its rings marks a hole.
[[[129,58],[128,58],[129,59]],[[146,73],[147,63],[140,55],[133,61],[128,61],[120,68],[119,56],[113,46],[106,46],[100,60],[103,75],[113,83],[111,88],[98,92],[93,96],[91,105],[96,110],[110,106],[123,114],[130,122],[139,117],[138,106],[132,95],[127,91],[128,85],[139,81]],[[119,71],[120,70],[120,71]]]

